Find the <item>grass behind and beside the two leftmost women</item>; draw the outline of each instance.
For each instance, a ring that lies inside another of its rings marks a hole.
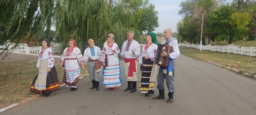
[[[3,62],[0,64],[0,108],[14,103],[20,103],[33,97],[38,98],[36,93],[29,92],[29,88],[34,77],[38,73],[35,67],[36,61],[15,61]],[[64,68],[59,68],[60,63],[55,67],[59,77],[59,83],[62,84]],[[85,70],[81,68],[81,76],[88,74],[87,65]]]

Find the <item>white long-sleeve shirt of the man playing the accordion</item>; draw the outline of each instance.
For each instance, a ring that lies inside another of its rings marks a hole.
[[[162,44],[165,44],[166,40],[162,42]],[[171,42],[168,43],[169,46],[173,46],[172,53],[169,54],[169,58],[177,58],[180,56],[180,50],[178,47],[178,40],[176,38],[171,38]]]

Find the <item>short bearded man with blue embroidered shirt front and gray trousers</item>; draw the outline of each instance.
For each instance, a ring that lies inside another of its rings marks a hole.
[[[99,72],[97,72],[97,63],[99,62],[99,56],[101,55],[101,49],[94,45],[93,39],[88,39],[89,47],[84,50],[84,61],[87,62],[88,72],[90,75],[90,80],[93,83],[93,87],[90,89],[96,88],[99,91]]]

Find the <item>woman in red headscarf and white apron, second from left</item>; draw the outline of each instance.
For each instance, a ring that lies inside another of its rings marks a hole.
[[[78,47],[76,47],[76,42],[74,39],[69,39],[68,46],[64,49],[61,55],[60,68],[64,66],[65,71],[63,75],[63,83],[66,87],[70,87],[70,91],[76,91],[78,88],[78,80],[80,76],[80,68],[78,61],[80,62],[82,69],[83,65],[83,55]]]

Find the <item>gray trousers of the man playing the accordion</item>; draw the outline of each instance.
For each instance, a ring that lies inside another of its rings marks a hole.
[[[166,79],[166,85],[169,90],[169,92],[174,92],[174,71],[175,71],[175,60],[172,60],[172,76],[168,75],[168,72],[166,74],[163,73],[163,67],[159,67],[159,73],[157,76],[157,88],[158,89],[165,89],[165,79]]]

